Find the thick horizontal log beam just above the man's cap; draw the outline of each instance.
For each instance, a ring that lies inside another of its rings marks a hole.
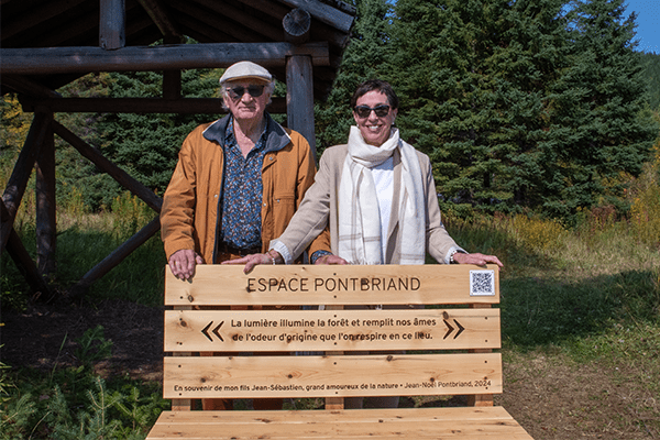
[[[315,66],[330,65],[327,42],[199,43],[167,46],[129,46],[116,51],[100,47],[0,48],[0,75],[54,75],[90,72],[151,72],[219,68],[251,59],[266,68],[283,67],[285,57],[311,56]]]

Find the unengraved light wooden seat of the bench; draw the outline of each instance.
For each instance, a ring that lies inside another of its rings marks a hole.
[[[502,407],[163,413],[147,439],[529,440]]]

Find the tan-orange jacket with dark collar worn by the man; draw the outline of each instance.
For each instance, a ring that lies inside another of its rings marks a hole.
[[[220,231],[222,143],[230,117],[199,125],[182,146],[161,210],[161,237],[167,258],[182,249],[199,253],[205,263],[218,263],[216,237]],[[286,229],[305,193],[314,183],[316,165],[307,140],[284,129],[267,113],[268,138],[262,167],[262,252]],[[310,244],[310,255],[330,250],[329,234]]]

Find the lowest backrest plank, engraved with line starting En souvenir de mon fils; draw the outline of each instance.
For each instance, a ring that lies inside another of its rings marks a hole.
[[[164,359],[164,398],[482,393],[502,393],[499,353]]]

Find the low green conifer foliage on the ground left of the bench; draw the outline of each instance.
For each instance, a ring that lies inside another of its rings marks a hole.
[[[79,365],[56,365],[50,376],[29,370],[2,376],[0,439],[144,439],[167,406],[160,392],[154,384],[107,382],[94,373],[94,364],[111,354],[102,327],[77,343]]]

